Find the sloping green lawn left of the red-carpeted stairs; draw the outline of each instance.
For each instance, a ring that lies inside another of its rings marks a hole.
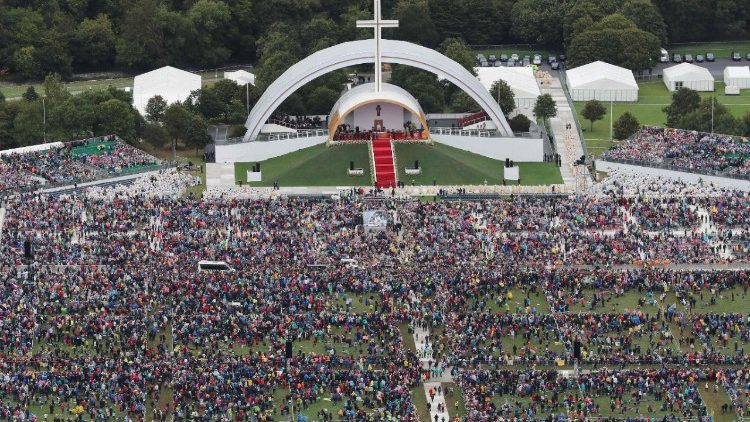
[[[365,170],[364,176],[349,176],[349,161]],[[247,171],[255,163],[236,163],[235,180],[247,182]],[[328,147],[325,144],[305,148],[261,162],[263,181],[251,186],[370,186],[370,158],[367,145]]]

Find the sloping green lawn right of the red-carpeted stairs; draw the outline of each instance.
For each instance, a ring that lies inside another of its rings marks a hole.
[[[407,185],[490,185],[503,183],[504,162],[483,157],[468,151],[442,144],[397,143],[396,160],[399,180]],[[422,174],[406,174],[419,160]],[[553,163],[518,163],[521,167],[522,185],[549,185],[562,183],[560,171]]]

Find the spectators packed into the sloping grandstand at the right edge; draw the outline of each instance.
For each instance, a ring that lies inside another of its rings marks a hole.
[[[602,159],[665,164],[698,172],[750,175],[750,143],[728,135],[647,127]]]

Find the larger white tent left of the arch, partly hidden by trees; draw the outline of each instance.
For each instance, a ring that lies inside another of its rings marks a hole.
[[[146,114],[146,104],[161,95],[167,104],[185,101],[192,91],[201,88],[201,77],[172,66],[138,75],[133,80],[133,107]]]

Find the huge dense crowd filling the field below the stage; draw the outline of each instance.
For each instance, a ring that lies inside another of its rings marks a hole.
[[[702,417],[706,380],[744,411],[747,375],[715,368],[750,364],[750,321],[712,307],[744,303],[748,274],[654,265],[747,263],[744,194],[196,201],[194,183],[5,202],[0,417],[416,421],[413,391],[445,373],[470,421]],[[395,217],[365,233],[367,210]],[[440,334],[417,350],[415,327]],[[532,369],[577,342],[590,373]]]

